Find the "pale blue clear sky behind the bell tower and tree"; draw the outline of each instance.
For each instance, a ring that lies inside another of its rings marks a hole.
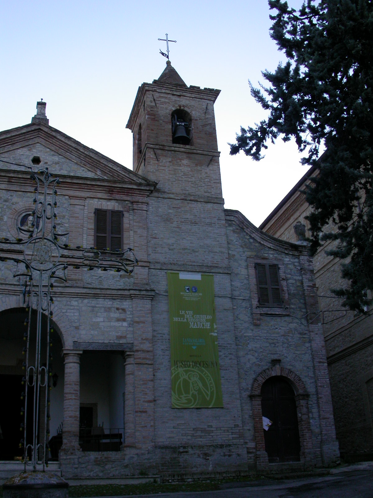
[[[300,0],[289,0],[294,7]],[[263,82],[283,56],[269,36],[266,0],[0,0],[0,129],[30,123],[36,101],[49,124],[132,168],[125,128],[137,88],[170,60],[187,85],[218,88],[215,104],[225,207],[259,225],[305,173],[294,144],[278,140],[261,162],[229,155],[240,125],[266,117],[248,79]]]

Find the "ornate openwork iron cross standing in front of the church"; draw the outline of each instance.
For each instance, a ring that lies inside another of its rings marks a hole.
[[[43,465],[43,470],[45,470],[45,465],[48,465],[49,391],[52,376],[49,349],[51,346],[50,334],[53,333],[51,325],[53,296],[51,291],[54,281],[59,279],[66,282],[66,270],[69,266],[87,268],[88,270],[99,268],[102,271],[124,271],[130,274],[138,261],[130,248],[126,250],[97,250],[93,247],[71,247],[67,244],[68,232],[59,233],[56,225],[57,186],[60,180],[52,175],[48,168],[32,172],[31,179],[36,183],[33,199],[34,209],[27,220],[23,220],[23,226],[20,226],[20,223],[17,226],[18,237],[15,240],[5,237],[0,239],[2,245],[2,247],[0,246],[0,261],[16,262],[17,266],[13,276],[20,278],[25,297],[24,302],[27,301],[26,312],[28,316],[24,322],[27,326],[27,332],[23,335],[26,343],[23,348],[25,361],[22,365],[25,372],[22,384],[25,388],[21,395],[21,399],[24,399],[24,407],[21,408],[24,422],[21,424],[23,438],[19,447],[23,448],[25,470],[26,465],[32,465],[35,471],[37,465]],[[29,355],[32,309],[36,311],[34,361]],[[47,330],[46,340],[42,342],[43,313],[47,315]],[[44,364],[41,360],[42,355],[46,356]],[[30,400],[28,391],[32,387],[34,392]],[[32,442],[27,444],[27,403],[30,402],[33,404]],[[43,433],[39,427],[44,427]]]

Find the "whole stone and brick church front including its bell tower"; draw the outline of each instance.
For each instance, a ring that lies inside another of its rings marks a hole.
[[[224,210],[218,95],[187,87],[168,61],[129,117],[133,170],[50,126],[43,102],[31,124],[0,133],[0,237],[27,223],[33,185],[22,165],[38,164],[60,179],[57,223],[69,245],[131,247],[138,259],[131,274],[69,266],[54,286],[49,456],[68,479],[339,461],[312,258]],[[14,263],[0,264],[4,462],[19,458],[27,299]],[[212,290],[198,311],[204,282]]]

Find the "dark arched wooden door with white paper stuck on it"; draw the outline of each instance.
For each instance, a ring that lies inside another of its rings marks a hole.
[[[273,422],[268,431],[264,430],[269,462],[298,462],[298,417],[291,385],[284,377],[274,376],[264,382],[261,394],[262,414]]]

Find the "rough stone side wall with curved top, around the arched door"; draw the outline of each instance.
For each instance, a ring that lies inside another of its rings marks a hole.
[[[308,418],[311,441],[307,439],[308,435],[304,435],[303,447],[307,446],[307,452],[303,452],[304,467],[335,464],[339,459],[338,443],[311,273],[312,261],[303,247],[266,239],[238,212],[226,211],[226,220],[241,411],[244,440],[248,451],[251,450],[249,458],[251,462],[255,461],[252,444],[255,441],[255,420],[259,416],[259,412],[255,414],[253,411],[254,400],[250,400],[252,385],[257,376],[275,361],[286,372],[298,376],[305,386],[302,394],[306,394],[308,399],[309,411],[305,416]],[[251,260],[279,264],[280,273],[282,268],[284,274],[288,306],[283,309],[266,308],[259,311],[258,316],[258,311],[254,310],[258,307],[258,301],[252,300],[256,279],[255,273],[250,272]],[[298,416],[299,411],[300,405]]]

